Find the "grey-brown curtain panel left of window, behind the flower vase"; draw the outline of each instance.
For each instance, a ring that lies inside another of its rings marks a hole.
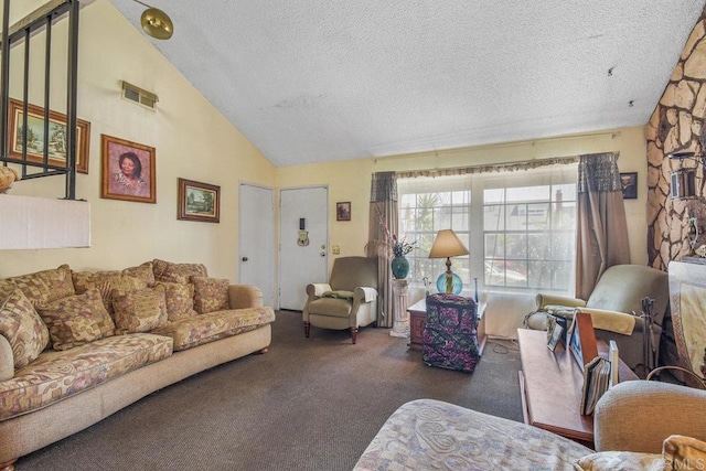
[[[377,257],[377,327],[393,327],[392,260],[393,234],[397,234],[397,180],[395,172],[373,173],[371,211],[365,255]]]

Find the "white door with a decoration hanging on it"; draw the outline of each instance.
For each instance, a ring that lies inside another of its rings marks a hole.
[[[301,311],[307,285],[329,280],[329,189],[280,190],[279,205],[279,308]]]

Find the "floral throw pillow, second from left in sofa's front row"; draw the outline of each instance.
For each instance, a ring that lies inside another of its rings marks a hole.
[[[73,349],[110,336],[115,331],[115,323],[96,288],[40,306],[38,310],[49,328],[54,350]]]

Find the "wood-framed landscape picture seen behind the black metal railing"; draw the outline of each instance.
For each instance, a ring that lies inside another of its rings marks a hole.
[[[23,103],[10,98],[8,110],[8,156],[22,159],[24,142]],[[49,138],[44,138],[44,108],[26,106],[26,159],[30,162],[44,161],[44,141],[49,141],[49,163],[66,167],[66,115],[49,111]],[[88,147],[90,143],[90,122],[76,119],[76,171],[88,173]]]

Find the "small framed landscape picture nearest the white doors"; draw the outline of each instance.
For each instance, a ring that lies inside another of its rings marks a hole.
[[[176,218],[218,223],[221,221],[221,186],[179,179]]]

